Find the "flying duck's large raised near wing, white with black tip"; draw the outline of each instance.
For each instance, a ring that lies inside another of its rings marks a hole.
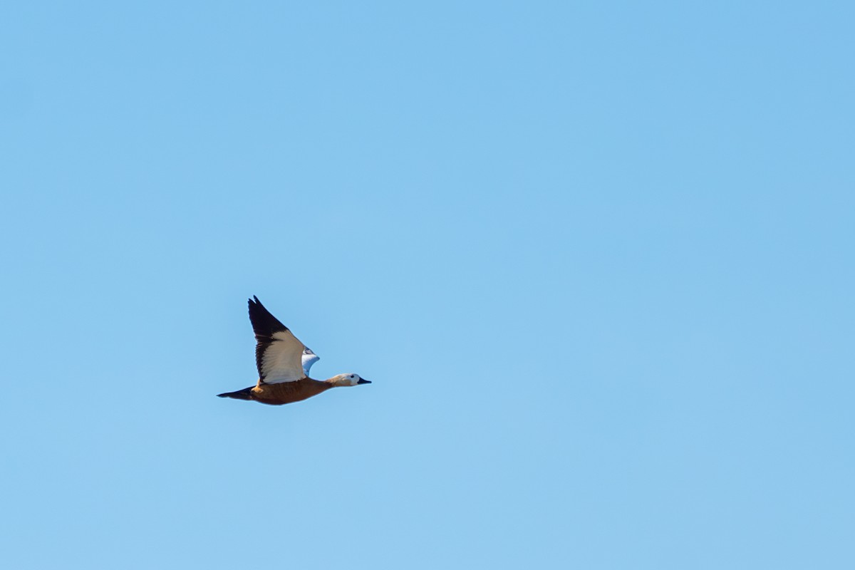
[[[307,375],[303,369],[306,347],[264,308],[258,297],[250,299],[250,321],[256,333],[258,378],[266,384],[304,379]]]

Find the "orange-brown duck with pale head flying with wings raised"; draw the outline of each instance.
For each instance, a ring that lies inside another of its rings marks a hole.
[[[320,357],[270,314],[258,297],[253,296],[249,305],[252,331],[256,335],[258,383],[243,390],[217,394],[218,397],[281,406],[317,396],[330,388],[371,384],[356,373],[336,374],[326,380],[309,378],[310,368]]]

